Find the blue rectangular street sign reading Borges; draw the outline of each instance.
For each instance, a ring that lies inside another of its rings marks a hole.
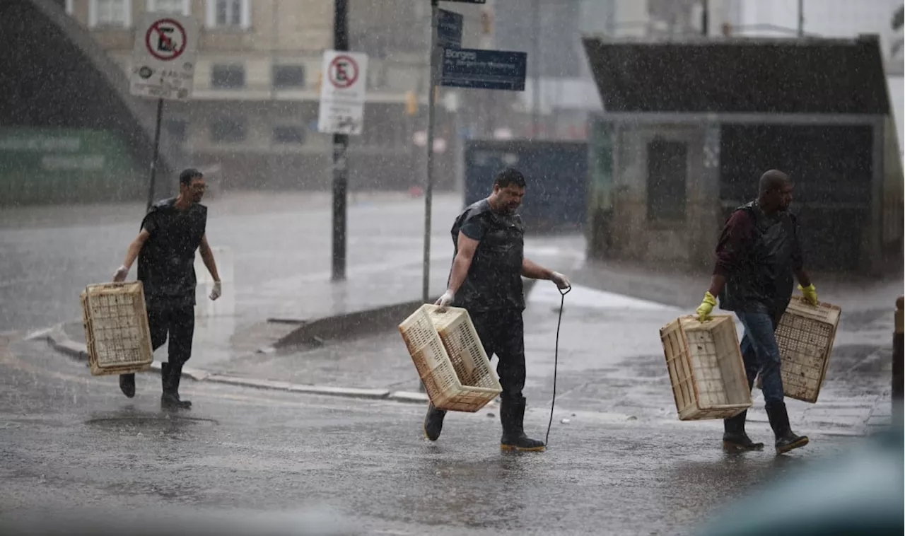
[[[471,48],[443,50],[440,84],[479,90],[525,90],[528,54]]]

